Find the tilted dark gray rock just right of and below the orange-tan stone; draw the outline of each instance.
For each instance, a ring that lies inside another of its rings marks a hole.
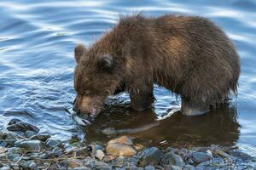
[[[157,165],[160,163],[160,150],[156,147],[148,148],[143,151],[143,155],[138,161],[138,165],[145,167],[147,165]]]

